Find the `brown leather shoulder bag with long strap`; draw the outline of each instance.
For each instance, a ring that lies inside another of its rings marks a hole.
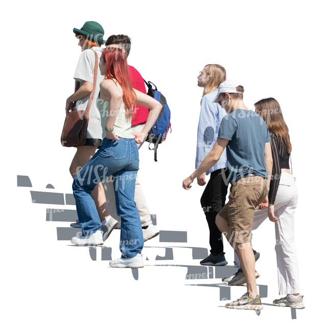
[[[89,113],[97,84],[98,55],[95,51],[93,52],[93,89],[90,93],[88,107],[86,110],[75,111],[74,109],[70,109],[69,112],[66,114],[61,134],[61,144],[64,147],[79,147],[85,144],[86,131],[89,124]],[[76,87],[78,87],[78,85]]]

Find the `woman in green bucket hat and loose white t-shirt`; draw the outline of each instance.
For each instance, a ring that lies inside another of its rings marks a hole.
[[[68,97],[66,101],[66,112],[73,106],[74,102],[74,110],[87,109],[90,92],[93,90],[94,52],[96,52],[98,56],[98,77],[90,108],[86,143],[84,146],[77,147],[77,151],[69,167],[70,174],[75,178],[76,174],[91,159],[97,148],[102,145],[103,141],[101,117],[96,102],[100,91],[100,83],[104,80],[104,76],[100,73],[99,62],[102,55],[100,46],[105,41],[103,39],[104,29],[95,21],[87,21],[81,29],[74,28],[73,32],[79,39],[78,45],[81,46],[82,53],[74,75],[76,91],[72,96]],[[91,195],[96,203],[101,222],[106,223],[111,217],[108,212],[103,185],[101,183],[97,185],[91,192]],[[76,221],[70,226],[80,227],[80,224]]]

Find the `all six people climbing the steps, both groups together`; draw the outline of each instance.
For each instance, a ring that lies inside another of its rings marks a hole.
[[[112,35],[95,21],[74,29],[82,53],[75,72],[76,89],[66,101],[66,112],[86,110],[92,97],[84,146],[77,147],[70,165],[78,220],[76,245],[101,245],[114,228],[121,228],[122,256],[111,267],[143,267],[144,242],[159,234],[137,180],[139,147],[157,120],[161,104],[146,94],[138,71],[128,65],[131,41]],[[101,48],[102,44],[106,48]],[[94,77],[98,57],[97,78]],[[195,172],[183,180],[185,189],[197,178],[205,185],[201,206],[209,227],[211,246],[202,265],[223,266],[223,238],[234,248],[238,271],[223,281],[247,284],[248,292],[227,303],[234,309],[262,309],[257,292],[251,230],[265,219],[275,223],[279,294],[273,304],[302,309],[294,244],[297,190],[289,168],[292,151],[288,127],[273,98],[260,100],[255,112],[243,102],[241,83],[226,80],[218,64],[206,65],[198,76],[204,87],[197,135]],[[91,92],[94,93],[91,93]],[[96,152],[96,150],[98,151]],[[228,184],[229,200],[226,202]],[[107,197],[108,199],[107,199]],[[116,212],[115,212],[116,209]]]

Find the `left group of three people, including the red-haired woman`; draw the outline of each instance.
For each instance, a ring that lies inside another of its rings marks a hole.
[[[159,231],[137,180],[138,148],[162,106],[146,94],[144,79],[127,63],[131,48],[128,36],[111,35],[106,48],[101,48],[104,29],[98,22],[87,21],[73,31],[82,53],[74,75],[75,92],[67,98],[66,112],[86,110],[94,93],[85,145],[77,147],[69,168],[78,214],[70,226],[82,229],[72,243],[101,245],[114,228],[121,227],[122,256],[111,260],[110,266],[143,267],[143,244]],[[96,55],[97,79],[93,80]]]

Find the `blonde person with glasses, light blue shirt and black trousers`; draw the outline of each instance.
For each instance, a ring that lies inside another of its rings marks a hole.
[[[197,168],[203,159],[215,145],[219,126],[226,111],[214,100],[218,94],[219,84],[226,80],[226,70],[219,64],[208,64],[198,76],[198,86],[203,87],[203,97],[201,99],[201,112],[197,131],[197,150],[196,165]],[[222,234],[216,225],[216,216],[225,205],[228,170],[226,152],[224,152],[219,161],[197,178],[197,183],[201,186],[206,184],[205,177],[210,174],[210,179],[204,189],[201,197],[201,206],[203,208],[207,224],[209,227],[210,254],[204,258],[201,265],[222,266],[226,265],[224,245]]]

